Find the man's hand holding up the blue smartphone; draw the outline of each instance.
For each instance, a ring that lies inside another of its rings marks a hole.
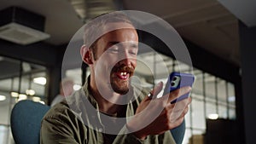
[[[160,93],[163,84],[158,84],[151,94],[156,97]],[[191,98],[171,104],[177,97],[189,93],[190,87],[183,87],[172,91],[169,95],[160,98],[146,96],[137,107],[134,118],[127,124],[127,128],[134,131],[139,139],[145,139],[147,135],[160,135],[166,130],[172,130],[182,124],[185,114],[189,111]]]

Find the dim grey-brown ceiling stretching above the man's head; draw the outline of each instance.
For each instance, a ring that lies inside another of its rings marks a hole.
[[[240,66],[238,20],[217,0],[0,0],[45,16],[46,43],[68,43],[86,20],[115,9],[160,16],[192,43]]]

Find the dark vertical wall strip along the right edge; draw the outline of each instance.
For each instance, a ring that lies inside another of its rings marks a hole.
[[[248,28],[240,22],[241,43],[241,88],[244,113],[246,143],[255,143],[256,131],[255,102],[256,102],[256,27]]]

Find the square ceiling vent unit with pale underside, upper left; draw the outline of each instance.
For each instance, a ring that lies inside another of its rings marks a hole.
[[[45,18],[26,9],[9,7],[0,11],[0,38],[22,45],[49,38],[44,33]]]

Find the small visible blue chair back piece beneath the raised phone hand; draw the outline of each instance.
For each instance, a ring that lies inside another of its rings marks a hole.
[[[185,135],[185,130],[186,130],[185,120],[183,120],[182,124],[170,130],[172,133],[173,139],[176,141],[177,144],[182,144],[183,137]]]

